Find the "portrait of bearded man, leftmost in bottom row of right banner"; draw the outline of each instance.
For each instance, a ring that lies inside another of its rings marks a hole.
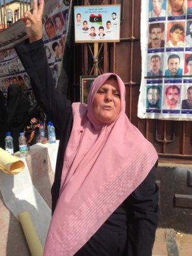
[[[147,109],[160,109],[161,90],[159,86],[147,87]]]

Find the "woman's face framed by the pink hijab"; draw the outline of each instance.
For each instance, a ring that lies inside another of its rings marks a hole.
[[[109,124],[116,120],[121,109],[121,95],[116,80],[109,78],[99,88],[93,99],[93,115],[100,123]]]

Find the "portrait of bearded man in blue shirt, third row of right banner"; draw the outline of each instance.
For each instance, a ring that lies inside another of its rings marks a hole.
[[[165,70],[165,76],[182,76],[183,69],[179,68],[180,63],[179,55],[171,54],[167,59],[168,69]]]

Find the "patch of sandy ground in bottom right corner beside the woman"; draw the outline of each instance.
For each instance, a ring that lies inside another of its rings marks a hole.
[[[192,234],[184,234],[174,229],[158,228],[152,256],[191,256]]]

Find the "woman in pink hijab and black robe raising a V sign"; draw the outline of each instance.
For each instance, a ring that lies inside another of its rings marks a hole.
[[[125,114],[125,87],[98,76],[88,104],[53,86],[42,42],[44,1],[27,11],[29,43],[16,46],[39,104],[61,132],[45,256],[149,256],[158,224],[157,152]]]

